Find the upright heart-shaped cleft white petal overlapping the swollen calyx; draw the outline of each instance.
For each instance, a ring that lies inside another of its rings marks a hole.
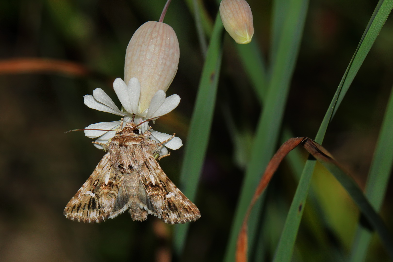
[[[141,85],[138,79],[132,78],[129,82],[130,86],[121,80],[121,78],[116,78],[113,82],[113,89],[118,95],[120,103],[123,105],[124,109],[130,114],[137,114],[138,101],[141,93]]]

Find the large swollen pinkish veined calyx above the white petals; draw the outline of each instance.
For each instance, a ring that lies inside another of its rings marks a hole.
[[[125,54],[124,82],[136,77],[141,85],[140,113],[158,90],[167,91],[179,64],[179,42],[173,28],[149,21],[132,36]]]

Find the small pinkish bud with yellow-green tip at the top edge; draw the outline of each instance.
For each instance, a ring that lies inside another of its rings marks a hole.
[[[220,16],[225,30],[238,44],[248,44],[254,34],[250,5],[245,0],[222,0]]]

